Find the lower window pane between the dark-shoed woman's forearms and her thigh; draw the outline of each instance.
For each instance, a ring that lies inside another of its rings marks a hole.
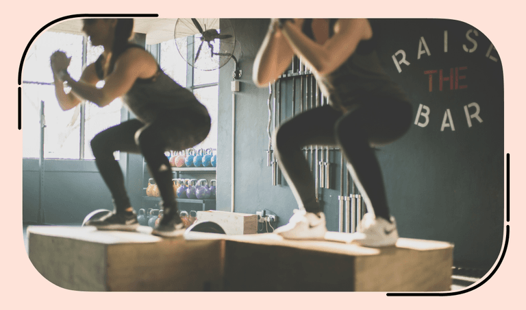
[[[99,108],[96,104],[86,102],[86,123],[84,130],[84,159],[95,159],[91,150],[91,139],[99,132],[121,123],[121,99],[115,99],[111,104]],[[115,152],[115,159],[119,159],[119,152]]]

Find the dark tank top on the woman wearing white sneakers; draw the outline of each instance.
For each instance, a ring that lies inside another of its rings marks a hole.
[[[334,35],[336,21],[337,19],[329,21],[329,37]],[[305,20],[303,33],[314,40],[312,20]],[[373,96],[407,101],[399,86],[381,68],[376,46],[373,34],[373,38],[361,40],[354,53],[338,69],[323,77],[316,77],[324,95],[329,97],[331,106],[349,107],[364,103],[366,98]]]

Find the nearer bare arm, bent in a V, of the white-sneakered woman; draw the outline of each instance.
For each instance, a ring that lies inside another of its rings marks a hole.
[[[320,75],[338,69],[355,51],[360,40],[371,36],[371,25],[366,19],[339,19],[334,27],[334,36],[320,45],[301,32],[301,27],[284,24],[281,33],[292,50]]]

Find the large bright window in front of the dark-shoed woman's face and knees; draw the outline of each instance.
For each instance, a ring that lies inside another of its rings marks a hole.
[[[71,57],[68,71],[78,80],[84,66],[94,62],[102,52],[101,47],[92,47],[86,41],[79,34],[47,31],[29,49],[22,85],[23,158],[40,156],[41,102],[44,102],[45,119],[44,158],[93,159],[90,147],[93,136],[121,122],[120,100],[105,108],[84,102],[63,111],[58,105],[49,57],[58,49],[64,51]]]

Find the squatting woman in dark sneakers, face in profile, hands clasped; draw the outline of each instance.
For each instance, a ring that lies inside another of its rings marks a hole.
[[[114,159],[115,151],[145,156],[151,176],[158,185],[162,219],[154,235],[171,237],[184,228],[172,184],[172,171],[166,150],[185,150],[201,143],[210,131],[210,115],[191,91],[179,86],[159,67],[153,56],[129,42],[133,19],[84,19],[82,31],[92,45],[104,51],[75,81],[68,74],[70,58],[62,51],[51,56],[55,94],[63,110],[74,108],[83,99],[103,107],[122,97],[136,119],[100,132],[91,141],[95,162],[110,189],[114,211],[87,224],[101,230],[134,230],[136,213],[130,205],[123,173]],[[104,80],[104,86],[95,85]],[[63,82],[71,86],[65,93]]]

